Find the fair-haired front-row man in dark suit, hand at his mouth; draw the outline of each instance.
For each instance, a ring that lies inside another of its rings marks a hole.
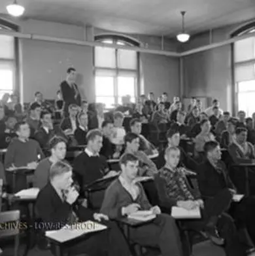
[[[35,204],[38,217],[52,230],[78,221],[97,221],[108,229],[90,234],[69,245],[69,253],[86,253],[91,256],[129,256],[129,249],[122,232],[102,213],[94,213],[77,202],[78,192],[73,187],[72,168],[65,162],[56,162],[50,168],[50,181],[39,192]],[[46,227],[45,227],[46,229]]]

